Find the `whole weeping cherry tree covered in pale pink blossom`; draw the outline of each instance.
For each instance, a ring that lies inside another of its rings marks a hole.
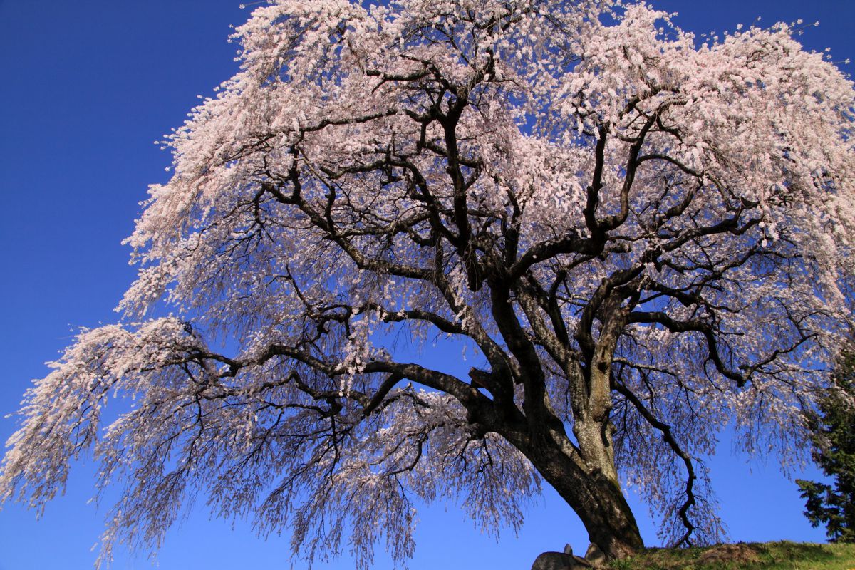
[[[698,44],[605,0],[255,9],[168,138],[126,316],[28,392],[0,498],[43,505],[93,448],[126,485],[106,559],[198,490],[360,567],[411,554],[413,497],[518,526],[541,480],[610,557],[642,546],[627,484],[663,537],[716,538],[699,457],[731,423],[798,450],[852,322],[852,85],[797,31]],[[468,377],[398,346],[436,335]],[[111,394],[133,406],[102,431]]]

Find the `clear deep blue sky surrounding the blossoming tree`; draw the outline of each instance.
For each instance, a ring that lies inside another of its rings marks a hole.
[[[852,0],[653,4],[680,12],[678,25],[696,32],[734,29],[757,16],[766,25],[819,20],[804,43],[831,47],[837,61],[855,59]],[[30,379],[44,376],[44,361],[68,344],[71,328],[115,320],[111,309],[134,275],[120,241],[146,186],[167,176],[169,156],[152,142],[234,72],[236,46],[226,38],[247,15],[239,0],[0,0],[0,416],[17,408]],[[14,428],[14,420],[0,420],[0,438]],[[711,461],[731,538],[823,540],[775,458],[746,461],[726,441]],[[0,511],[0,570],[91,567],[106,505],[86,504],[93,467],[76,467],[66,496],[42,520],[18,504]],[[639,504],[636,514],[647,544],[657,544],[646,508]],[[575,514],[551,491],[520,536],[504,532],[498,544],[453,505],[424,509],[421,518],[413,570],[522,570],[543,550],[587,546]],[[245,524],[232,529],[195,508],[168,533],[158,560],[164,570],[289,567],[288,544],[287,536],[263,542]],[[151,567],[144,555],[116,554],[117,569]],[[345,558],[329,567],[351,564]],[[378,553],[375,567],[392,565]]]

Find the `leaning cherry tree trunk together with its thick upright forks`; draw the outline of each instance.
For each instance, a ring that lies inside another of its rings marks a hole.
[[[563,361],[568,379],[573,444],[563,421],[551,407],[543,364],[535,344],[528,339],[516,317],[510,303],[510,289],[499,279],[492,280],[490,288],[492,314],[504,341],[520,364],[519,379],[525,397],[522,409],[509,406],[502,410],[501,421],[490,411],[479,414],[477,410],[475,420],[499,432],[528,457],[546,482],[579,515],[590,541],[609,559],[634,554],[644,544],[617,477],[610,423],[611,361],[617,338],[626,323],[621,297],[609,297],[609,287],[601,285],[598,291],[602,298],[592,306],[599,307],[598,319],[603,325],[595,342],[590,326],[597,311],[586,312],[589,322],[587,332],[581,334],[583,340],[580,342],[584,346],[580,356],[572,356],[571,350],[562,352],[555,348],[561,341],[552,338],[556,362]],[[532,315],[529,320],[538,322],[538,309],[530,300],[526,301],[525,291],[522,288],[515,291],[523,311]],[[555,320],[560,320],[560,315]],[[548,332],[544,335],[549,337]],[[569,344],[569,338],[565,342]],[[584,357],[584,366],[575,360],[581,357]]]

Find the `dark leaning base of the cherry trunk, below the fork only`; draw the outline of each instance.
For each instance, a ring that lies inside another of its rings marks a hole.
[[[556,438],[526,439],[518,449],[579,515],[589,540],[609,559],[625,558],[644,547],[610,457],[610,465],[583,467],[578,455],[574,460]]]

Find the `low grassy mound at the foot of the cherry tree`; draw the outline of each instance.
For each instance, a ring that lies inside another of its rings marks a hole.
[[[855,570],[855,544],[719,544],[645,549],[611,570]]]

